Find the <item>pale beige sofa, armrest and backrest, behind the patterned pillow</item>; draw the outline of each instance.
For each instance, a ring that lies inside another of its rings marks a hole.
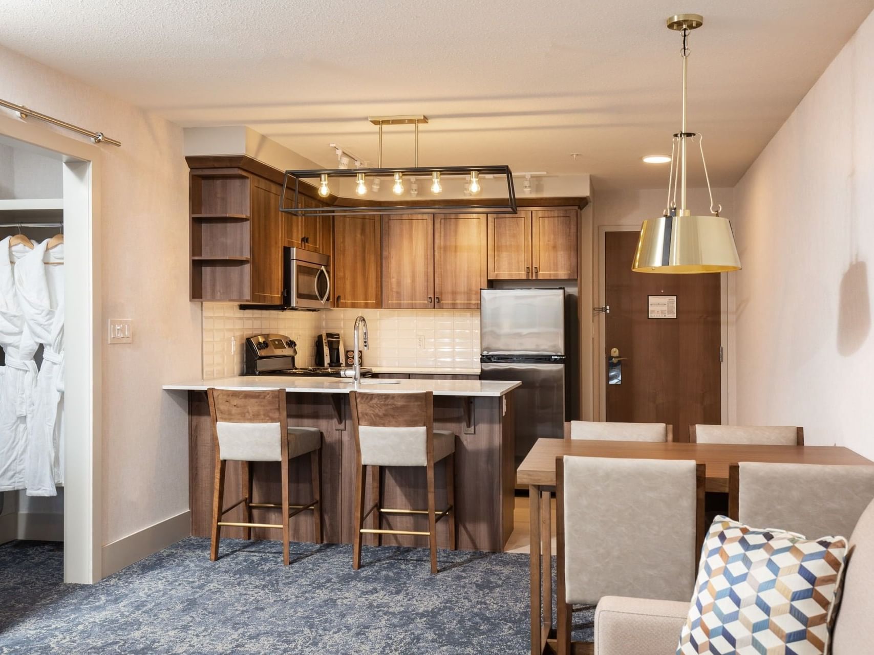
[[[839,486],[833,491],[839,493]],[[850,558],[831,638],[832,655],[871,652],[874,644],[874,621],[871,620],[874,617],[874,595],[871,589],[874,589],[874,502],[865,509],[850,536]],[[689,604],[689,600],[601,598],[595,611],[596,655],[675,652]]]

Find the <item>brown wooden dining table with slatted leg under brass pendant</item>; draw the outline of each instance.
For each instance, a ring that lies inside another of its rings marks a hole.
[[[729,468],[739,462],[871,465],[849,448],[836,445],[696,444],[539,438],[516,472],[518,486],[529,488],[531,515],[531,655],[556,652],[552,627],[551,497],[556,459],[604,457],[694,459],[704,464],[706,491],[728,492]]]

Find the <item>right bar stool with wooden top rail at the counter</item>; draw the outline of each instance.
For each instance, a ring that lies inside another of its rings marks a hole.
[[[350,393],[352,426],[355,432],[355,541],[352,568],[361,566],[361,535],[421,534],[431,548],[431,573],[437,573],[437,521],[449,518],[449,548],[455,549],[455,435],[434,430],[434,394],[425,393]],[[434,508],[434,463],[446,458],[447,508],[437,514]],[[380,466],[423,466],[427,472],[428,508],[391,509],[381,507]],[[364,482],[371,469],[373,505],[364,512]],[[364,520],[374,514],[374,528],[364,528]],[[427,514],[427,532],[381,529],[381,514]]]

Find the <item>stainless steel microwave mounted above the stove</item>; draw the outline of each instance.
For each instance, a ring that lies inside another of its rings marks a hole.
[[[330,309],[330,258],[302,248],[282,249],[282,304],[240,309]]]

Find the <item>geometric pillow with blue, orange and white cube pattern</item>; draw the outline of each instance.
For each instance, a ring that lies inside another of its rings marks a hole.
[[[844,537],[812,541],[718,516],[676,655],[824,655],[846,553]]]

